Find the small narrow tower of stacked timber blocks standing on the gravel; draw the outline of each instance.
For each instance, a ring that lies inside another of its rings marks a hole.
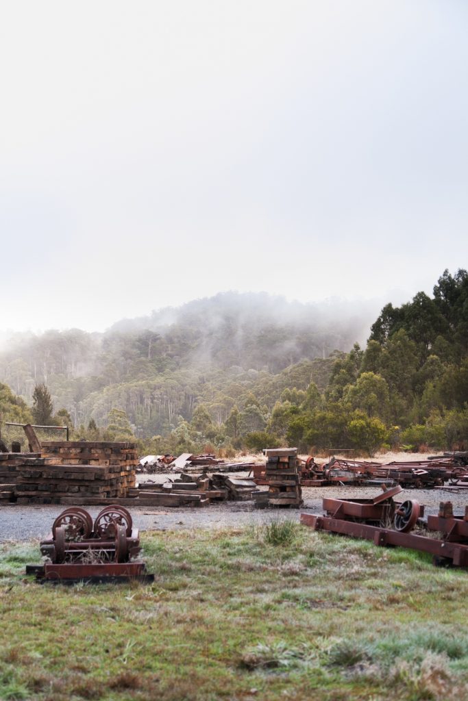
[[[267,457],[265,479],[268,491],[253,495],[255,505],[258,508],[266,506],[300,508],[303,501],[297,448],[265,449],[263,452]]]

